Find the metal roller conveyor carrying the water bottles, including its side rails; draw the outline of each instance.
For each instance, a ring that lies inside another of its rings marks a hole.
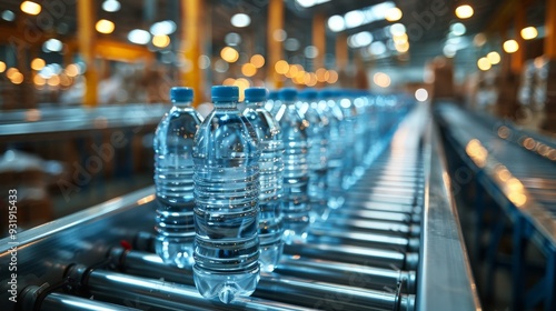
[[[157,310],[476,310],[443,179],[441,146],[428,122],[425,106],[407,116],[346,204],[311,229],[307,244],[286,247],[278,269],[261,275],[252,297],[230,305],[207,301],[191,271],[165,265],[152,253],[155,195],[148,188],[18,234],[18,299],[24,310],[96,310],[103,303]],[[0,244],[2,265],[10,260],[7,242]],[[1,303],[8,295],[0,292]],[[91,305],[83,303],[91,297]]]

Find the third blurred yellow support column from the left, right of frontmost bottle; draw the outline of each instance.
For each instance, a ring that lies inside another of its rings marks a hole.
[[[271,77],[271,81],[276,89],[282,87],[282,80],[275,70],[275,64],[282,58],[281,41],[275,39],[276,31],[284,29],[284,0],[270,0],[268,3],[268,29],[267,29],[267,59],[268,71],[267,76]]]

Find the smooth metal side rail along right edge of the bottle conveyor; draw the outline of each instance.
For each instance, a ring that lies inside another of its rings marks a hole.
[[[428,129],[431,131],[431,127]],[[435,131],[435,137],[437,136]],[[431,158],[426,187],[423,245],[417,294],[418,310],[441,310],[447,305],[459,310],[479,310],[480,303],[470,271],[459,219],[450,193],[450,180],[438,137],[428,153]],[[437,163],[437,165],[431,165]]]

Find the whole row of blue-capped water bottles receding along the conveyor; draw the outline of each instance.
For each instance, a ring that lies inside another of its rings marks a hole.
[[[155,136],[156,251],[193,270],[199,292],[228,303],[251,294],[284,243],[341,208],[408,109],[367,92],[212,87],[202,118],[192,90],[172,88]]]

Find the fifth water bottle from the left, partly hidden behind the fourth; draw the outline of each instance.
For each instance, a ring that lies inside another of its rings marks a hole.
[[[308,195],[311,207],[311,222],[324,221],[328,218],[328,118],[318,110],[318,92],[306,89],[299,92],[298,110],[301,117],[309,122],[307,131],[309,151]]]

